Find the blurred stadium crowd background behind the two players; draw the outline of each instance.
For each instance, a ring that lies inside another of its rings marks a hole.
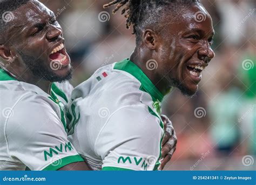
[[[42,0],[64,30],[76,86],[100,66],[128,58],[134,36],[126,19],[104,10],[110,0]],[[163,113],[178,135],[166,170],[255,170],[256,2],[203,0],[213,18],[216,54],[196,97],[174,90]]]

